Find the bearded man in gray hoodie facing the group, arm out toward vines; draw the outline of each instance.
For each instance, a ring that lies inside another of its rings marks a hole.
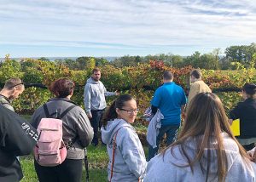
[[[107,107],[105,96],[118,95],[117,91],[108,92],[100,81],[101,70],[94,68],[91,77],[87,80],[84,86],[84,108],[87,117],[90,119],[90,124],[94,131],[92,139],[93,145],[98,145],[98,129],[102,127],[101,120],[103,112]]]

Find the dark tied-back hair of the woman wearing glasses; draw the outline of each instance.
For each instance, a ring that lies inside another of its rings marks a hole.
[[[108,110],[105,112],[102,118],[102,125],[107,126],[108,121],[111,121],[118,117],[116,113],[116,108],[122,109],[126,101],[133,100],[130,94],[122,94],[116,100],[113,101],[112,105],[109,106]]]

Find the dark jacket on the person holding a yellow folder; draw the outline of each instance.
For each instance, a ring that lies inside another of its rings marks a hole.
[[[241,139],[249,139],[256,137],[256,100],[251,98],[238,103],[236,107],[230,111],[230,118],[240,119],[240,137]]]

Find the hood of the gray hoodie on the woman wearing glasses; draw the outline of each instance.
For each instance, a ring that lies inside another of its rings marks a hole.
[[[113,139],[113,135],[116,133],[116,131],[119,128],[122,127],[131,127],[131,124],[129,124],[128,122],[125,122],[125,120],[123,119],[114,119],[113,121],[108,121],[108,124],[106,127],[101,128],[102,131],[102,141],[105,144],[110,144],[112,139]]]

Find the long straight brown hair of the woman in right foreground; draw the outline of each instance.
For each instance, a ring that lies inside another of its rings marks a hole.
[[[179,168],[189,167],[193,173],[193,166],[195,162],[200,162],[201,167],[207,164],[207,169],[202,169],[202,172],[207,173],[207,179],[210,173],[211,161],[217,160],[218,169],[216,176],[218,181],[223,182],[228,172],[228,161],[224,151],[224,139],[221,133],[226,133],[228,136],[236,142],[238,145],[241,157],[248,164],[248,156],[246,151],[238,143],[236,138],[231,132],[228,117],[225,114],[224,107],[216,94],[201,93],[197,94],[189,105],[187,118],[185,119],[181,133],[178,135],[177,141],[169,146],[165,152],[171,148],[172,156],[174,151],[172,146],[179,145],[179,151],[181,151],[188,164],[184,166],[176,165]],[[187,143],[189,138],[195,139],[195,157],[189,157],[189,151],[187,151]],[[216,140],[217,145],[212,145]],[[216,150],[217,159],[212,159],[211,150],[207,150],[207,155],[204,154],[205,149],[213,148]],[[206,171],[203,171],[206,170]]]

